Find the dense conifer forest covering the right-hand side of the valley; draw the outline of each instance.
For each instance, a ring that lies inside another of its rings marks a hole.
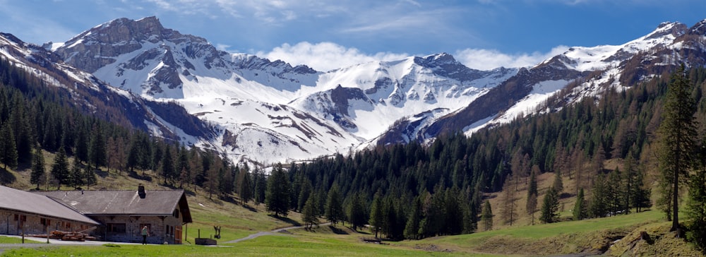
[[[688,76],[699,85],[693,95],[701,103],[698,119],[704,119],[706,69],[693,68]],[[323,215],[327,192],[335,188],[347,210],[341,220],[352,227],[368,224],[383,237],[419,239],[473,232],[479,222],[489,229],[493,214],[490,206],[485,210],[485,193],[503,185],[510,192],[525,189],[532,177],[554,172],[555,180],[569,181],[575,191],[564,191],[555,182],[539,190],[545,195],[540,203],[535,193],[534,204],[527,203],[527,213],[521,215],[541,212],[542,222],[559,221],[558,199],[570,196],[580,198],[574,212],[579,220],[640,211],[652,205],[646,186],[652,180],[646,174],[656,168],[650,165],[657,163],[655,134],[668,83],[669,74],[664,74],[627,90],[611,88],[556,112],[517,119],[468,138],[444,135],[429,146],[388,145],[292,164],[285,172],[287,204],[289,210],[301,211],[315,198],[316,213]],[[570,92],[561,97],[571,97]],[[618,167],[606,169],[608,159],[619,160]],[[508,199],[513,200],[501,201],[505,206],[496,206],[496,213],[520,200]],[[503,222],[512,222],[517,214],[506,217]]]

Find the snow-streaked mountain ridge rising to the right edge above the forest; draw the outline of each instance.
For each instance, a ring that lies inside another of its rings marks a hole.
[[[672,71],[681,63],[703,66],[705,42],[706,20],[703,20],[692,28],[682,23],[662,23],[653,32],[621,45],[572,47],[537,66],[522,68],[517,76],[505,80],[464,109],[421,128],[418,135],[433,138],[454,131],[472,133],[518,116],[551,112],[584,97],[598,97],[608,88],[626,90],[641,80]],[[565,95],[558,102],[546,102],[563,89]]]

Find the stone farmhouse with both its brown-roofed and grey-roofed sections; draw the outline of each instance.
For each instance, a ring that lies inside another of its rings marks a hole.
[[[10,196],[10,197],[7,197]],[[0,234],[85,231],[102,241],[181,244],[182,226],[191,223],[183,190],[36,191],[0,186]],[[3,227],[4,226],[4,227]]]

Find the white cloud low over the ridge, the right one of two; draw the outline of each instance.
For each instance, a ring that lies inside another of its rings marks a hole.
[[[516,68],[534,66],[557,54],[566,52],[568,47],[558,46],[547,53],[533,52],[532,54],[505,54],[496,49],[462,49],[456,51],[454,56],[465,66],[479,70],[490,70],[498,67]]]

